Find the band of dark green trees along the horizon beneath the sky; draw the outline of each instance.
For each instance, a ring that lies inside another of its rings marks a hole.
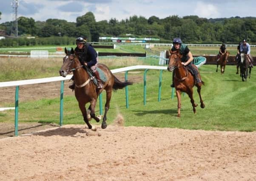
[[[4,22],[0,24],[0,29],[11,35],[11,24],[12,22]],[[130,37],[160,38],[160,42],[171,42],[174,37],[180,37],[185,43],[238,44],[242,39],[247,39],[250,43],[256,42],[256,17],[207,19],[173,15],[163,19],[156,16],[147,19],[134,15],[120,21],[111,18],[96,22],[94,14],[88,12],[77,17],[76,22],[63,19],[35,21],[33,18],[19,17],[18,30],[19,36],[83,36],[93,42],[98,42],[100,36],[129,34]]]

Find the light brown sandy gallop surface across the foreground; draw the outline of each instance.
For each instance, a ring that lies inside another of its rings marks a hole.
[[[3,181],[256,180],[256,132],[65,125],[0,139]]]

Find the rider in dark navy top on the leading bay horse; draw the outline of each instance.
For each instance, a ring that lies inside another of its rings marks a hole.
[[[94,73],[98,81],[98,89],[102,88],[102,82],[100,80],[100,74],[97,71],[98,55],[91,44],[87,43],[85,39],[78,37],[76,39],[77,47],[74,52],[79,57],[82,65],[88,66]],[[74,81],[74,76],[71,78]],[[74,89],[75,82],[69,86],[70,89]]]

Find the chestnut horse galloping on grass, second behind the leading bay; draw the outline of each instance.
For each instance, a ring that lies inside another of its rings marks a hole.
[[[201,108],[205,108],[205,104],[202,100],[201,97],[201,84],[198,85],[196,84],[196,81],[194,80],[193,75],[191,72],[181,63],[181,57],[182,55],[179,54],[179,51],[171,51],[169,54],[169,65],[168,65],[168,70],[174,71],[174,86],[176,89],[176,96],[178,98],[178,117],[180,117],[180,108],[181,108],[181,97],[180,94],[181,92],[186,92],[188,96],[190,97],[190,101],[193,106],[193,111],[196,113],[195,107],[197,104],[195,103],[193,99],[193,86],[196,85],[197,87],[197,92],[200,97],[200,102],[201,102]],[[193,65],[196,67],[195,65]],[[197,67],[196,67],[197,69]],[[198,72],[198,78],[201,79],[200,73]],[[202,81],[202,84],[204,82]]]

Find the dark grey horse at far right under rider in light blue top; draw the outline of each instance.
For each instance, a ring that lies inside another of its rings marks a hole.
[[[249,70],[249,78],[250,78],[252,67],[249,66],[250,65],[250,62],[248,59],[249,57],[247,57],[245,53],[241,53],[240,57],[241,57],[240,72],[241,72],[242,81],[247,81],[248,70]]]

